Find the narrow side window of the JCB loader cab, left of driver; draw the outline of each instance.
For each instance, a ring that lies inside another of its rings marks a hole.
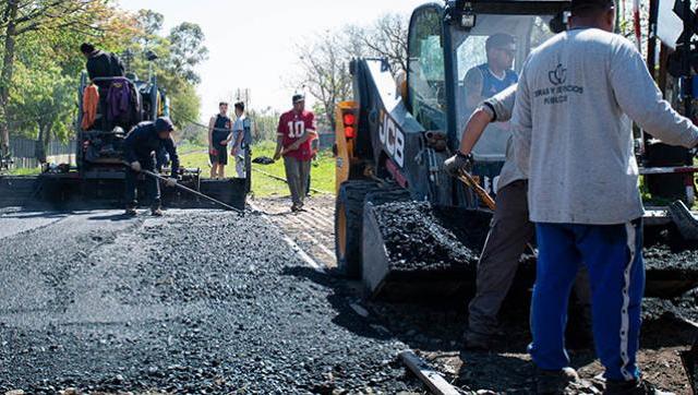
[[[446,87],[442,15],[435,8],[414,14],[409,38],[409,103],[426,130],[446,130]]]

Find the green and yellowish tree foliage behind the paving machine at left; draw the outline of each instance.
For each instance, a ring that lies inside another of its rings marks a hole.
[[[183,23],[164,36],[163,23],[157,12],[127,13],[116,0],[0,3],[0,147],[7,149],[10,134],[44,145],[73,136],[84,41],[121,56],[129,50],[132,71],[141,77],[152,71],[167,91],[178,125],[197,119],[195,69],[207,53],[203,32]],[[148,51],[158,56],[152,64]]]

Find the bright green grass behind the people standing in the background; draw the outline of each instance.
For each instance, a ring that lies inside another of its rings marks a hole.
[[[182,166],[200,168],[202,169],[202,177],[208,178],[210,176],[210,165],[208,164],[208,154],[205,153],[206,147],[194,148],[188,146],[189,153],[184,152],[180,156]],[[276,143],[274,142],[260,142],[252,146],[252,158],[260,156],[274,156],[274,149]],[[234,173],[234,160],[229,158],[228,166],[226,166],[226,176],[232,176]],[[279,160],[273,165],[263,166],[252,164],[252,193],[257,198],[267,196],[288,196],[288,185],[279,180],[275,180],[267,177],[254,169],[258,169],[270,175],[286,178],[284,170],[284,161]],[[311,166],[311,187],[328,193],[335,191],[335,159],[332,156],[330,151],[322,151],[317,154],[317,159]]]

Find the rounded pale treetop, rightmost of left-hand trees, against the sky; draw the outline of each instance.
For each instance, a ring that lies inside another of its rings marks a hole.
[[[183,22],[174,26],[168,36],[170,41],[170,71],[186,82],[198,84],[201,77],[196,65],[208,59],[208,49],[204,46],[204,32],[195,23]]]

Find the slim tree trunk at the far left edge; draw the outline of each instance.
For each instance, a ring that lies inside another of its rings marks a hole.
[[[8,107],[10,104],[10,84],[14,71],[14,45],[16,39],[16,17],[19,1],[8,1],[8,28],[4,36],[4,59],[0,73],[0,151],[10,152],[10,130],[8,128]]]

